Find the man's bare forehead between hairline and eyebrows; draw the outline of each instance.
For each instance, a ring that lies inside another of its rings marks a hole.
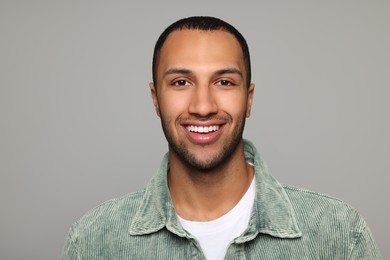
[[[242,69],[241,46],[233,34],[223,30],[176,30],[160,51],[157,71],[170,66],[233,66]]]

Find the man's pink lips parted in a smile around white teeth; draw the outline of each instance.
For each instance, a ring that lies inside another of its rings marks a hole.
[[[218,125],[219,129],[214,132],[209,132],[209,133],[196,133],[196,132],[191,132],[187,129],[187,126],[193,125],[193,126],[213,126],[213,125]],[[220,120],[213,120],[213,121],[194,121],[190,122],[187,121],[185,124],[182,124],[182,127],[190,140],[190,142],[194,144],[212,144],[215,141],[218,140],[220,135],[222,134],[222,131],[224,129],[225,122],[222,122]]]

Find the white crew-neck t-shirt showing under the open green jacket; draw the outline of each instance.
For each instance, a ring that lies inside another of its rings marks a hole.
[[[208,260],[224,259],[229,244],[248,227],[256,194],[255,178],[228,213],[212,221],[188,221],[179,216],[183,228],[193,235]]]

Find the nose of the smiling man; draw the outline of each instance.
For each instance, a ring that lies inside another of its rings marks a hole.
[[[218,105],[212,87],[205,84],[194,88],[188,110],[190,114],[201,117],[216,114]]]

